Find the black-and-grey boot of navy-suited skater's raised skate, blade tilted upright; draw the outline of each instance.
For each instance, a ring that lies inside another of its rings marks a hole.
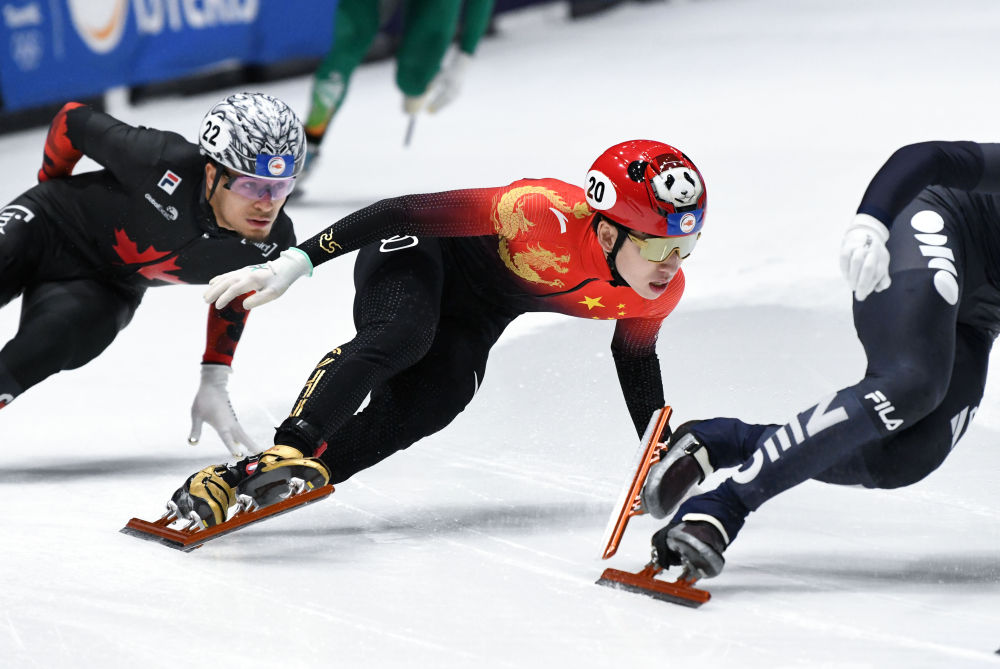
[[[715,471],[708,449],[691,427],[700,421],[688,421],[670,436],[666,453],[653,465],[642,487],[642,507],[653,518],[666,518],[694,486]]]

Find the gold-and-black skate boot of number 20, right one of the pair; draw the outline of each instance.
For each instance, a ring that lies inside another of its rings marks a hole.
[[[245,471],[249,476],[239,483],[236,495],[248,508],[269,506],[330,482],[330,470],[322,460],[306,457],[292,446],[272,446],[251,458]]]

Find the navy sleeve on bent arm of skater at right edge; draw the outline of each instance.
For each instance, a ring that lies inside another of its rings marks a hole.
[[[875,174],[858,213],[891,226],[928,186],[1000,191],[1000,145],[935,141],[904,146]]]

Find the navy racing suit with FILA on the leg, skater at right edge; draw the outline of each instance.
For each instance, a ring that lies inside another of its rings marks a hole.
[[[891,285],[854,302],[865,375],[783,426],[713,424],[743,435],[707,442],[716,467],[742,465],[720,495],[733,493],[746,510],[809,478],[870,488],[919,481],[947,458],[982,399],[1000,332],[1000,145],[904,147],[858,211],[891,231]]]

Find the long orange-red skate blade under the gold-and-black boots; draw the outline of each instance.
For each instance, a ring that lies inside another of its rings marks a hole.
[[[177,516],[168,513],[156,521],[133,518],[121,529],[121,532],[139,539],[157,541],[164,546],[189,553],[212,539],[218,539],[242,527],[286,513],[296,507],[317,502],[328,497],[332,492],[332,485],[325,485],[322,488],[300,492],[270,506],[252,511],[237,511],[225,522],[204,529],[198,529],[197,527],[184,529],[170,527],[177,520]]]

